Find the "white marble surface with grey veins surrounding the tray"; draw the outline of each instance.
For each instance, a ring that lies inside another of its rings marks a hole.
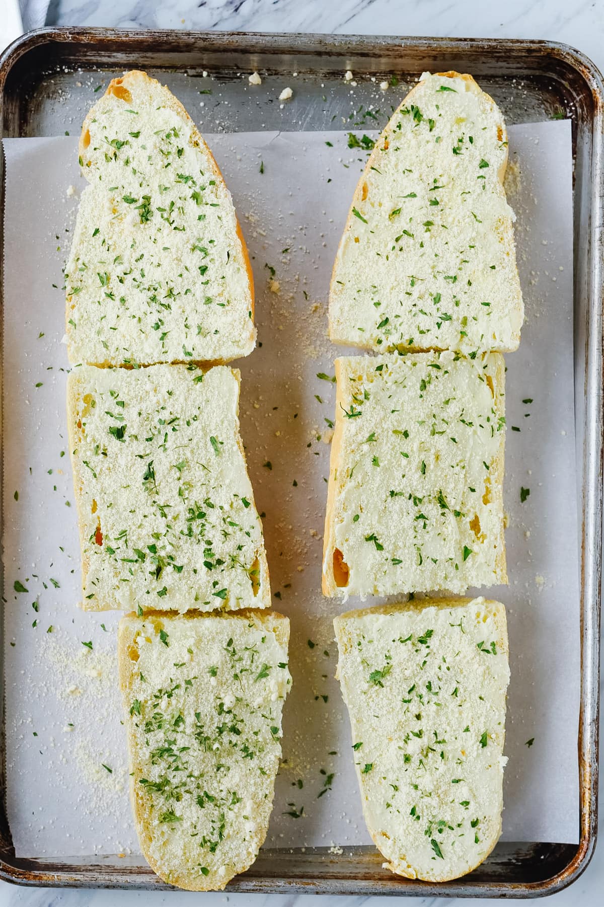
[[[4,0],[0,0],[0,7]],[[53,0],[49,24],[117,25],[237,29],[269,32],[335,32],[340,34],[453,35],[467,37],[548,38],[572,44],[604,69],[604,3],[575,0]],[[587,871],[569,889],[548,903],[556,907],[596,907],[602,902],[604,845],[596,850]],[[599,893],[598,893],[599,892]],[[0,883],[0,907],[385,907],[403,899],[328,898],[187,892],[77,892],[25,890]],[[417,898],[414,903],[453,905],[439,898]],[[463,902],[460,901],[459,905]],[[475,903],[487,904],[487,901]]]

